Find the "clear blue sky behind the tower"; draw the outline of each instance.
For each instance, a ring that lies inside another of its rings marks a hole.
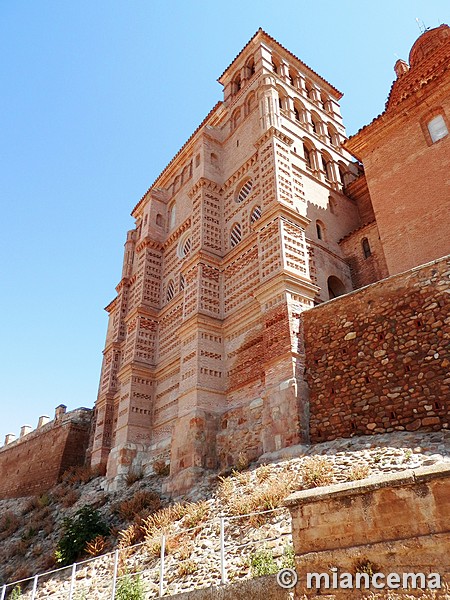
[[[448,0],[0,0],[0,444],[93,406],[129,213],[262,27],[344,92],[348,133]]]

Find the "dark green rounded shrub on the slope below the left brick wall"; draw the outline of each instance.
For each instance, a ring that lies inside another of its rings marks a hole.
[[[84,553],[87,542],[91,542],[98,535],[109,533],[107,524],[91,506],[83,506],[73,518],[64,519],[63,529],[64,534],[55,552],[56,562],[61,566],[75,562]]]

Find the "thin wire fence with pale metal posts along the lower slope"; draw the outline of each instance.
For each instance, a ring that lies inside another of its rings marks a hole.
[[[258,548],[277,557],[290,544],[291,521],[285,508],[218,517],[5,584],[0,600],[115,600],[133,585],[145,598],[161,598],[243,578]]]

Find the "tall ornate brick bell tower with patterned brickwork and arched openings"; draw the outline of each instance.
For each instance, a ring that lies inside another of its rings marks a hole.
[[[172,492],[306,441],[299,316],[330,280],[352,289],[340,92],[262,30],[219,83],[134,208],[107,307],[92,464],[117,480],[165,460]]]

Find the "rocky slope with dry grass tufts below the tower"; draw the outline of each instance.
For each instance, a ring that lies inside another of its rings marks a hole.
[[[339,439],[287,448],[261,457],[257,464],[246,465],[243,460],[240,470],[228,476],[205,475],[189,496],[177,502],[162,495],[163,475],[136,475],[136,481],[129,480],[120,491],[106,493],[103,478],[87,481],[92,474],[69,473],[49,494],[0,501],[1,583],[56,568],[54,551],[63,519],[86,505],[96,507],[111,528],[94,553],[121,548],[122,587],[131,585],[133,573],[143,571],[140,580],[146,597],[157,597],[163,532],[165,595],[219,583],[221,517],[227,579],[256,576],[292,561],[290,518],[282,508],[291,491],[443,461],[450,461],[447,431]],[[261,511],[270,512],[245,516]],[[130,548],[130,544],[138,545]],[[79,565],[74,600],[110,597],[113,565],[113,554]],[[68,598],[70,575],[68,567],[41,577],[36,597]],[[24,598],[31,597],[29,587],[21,588]]]

